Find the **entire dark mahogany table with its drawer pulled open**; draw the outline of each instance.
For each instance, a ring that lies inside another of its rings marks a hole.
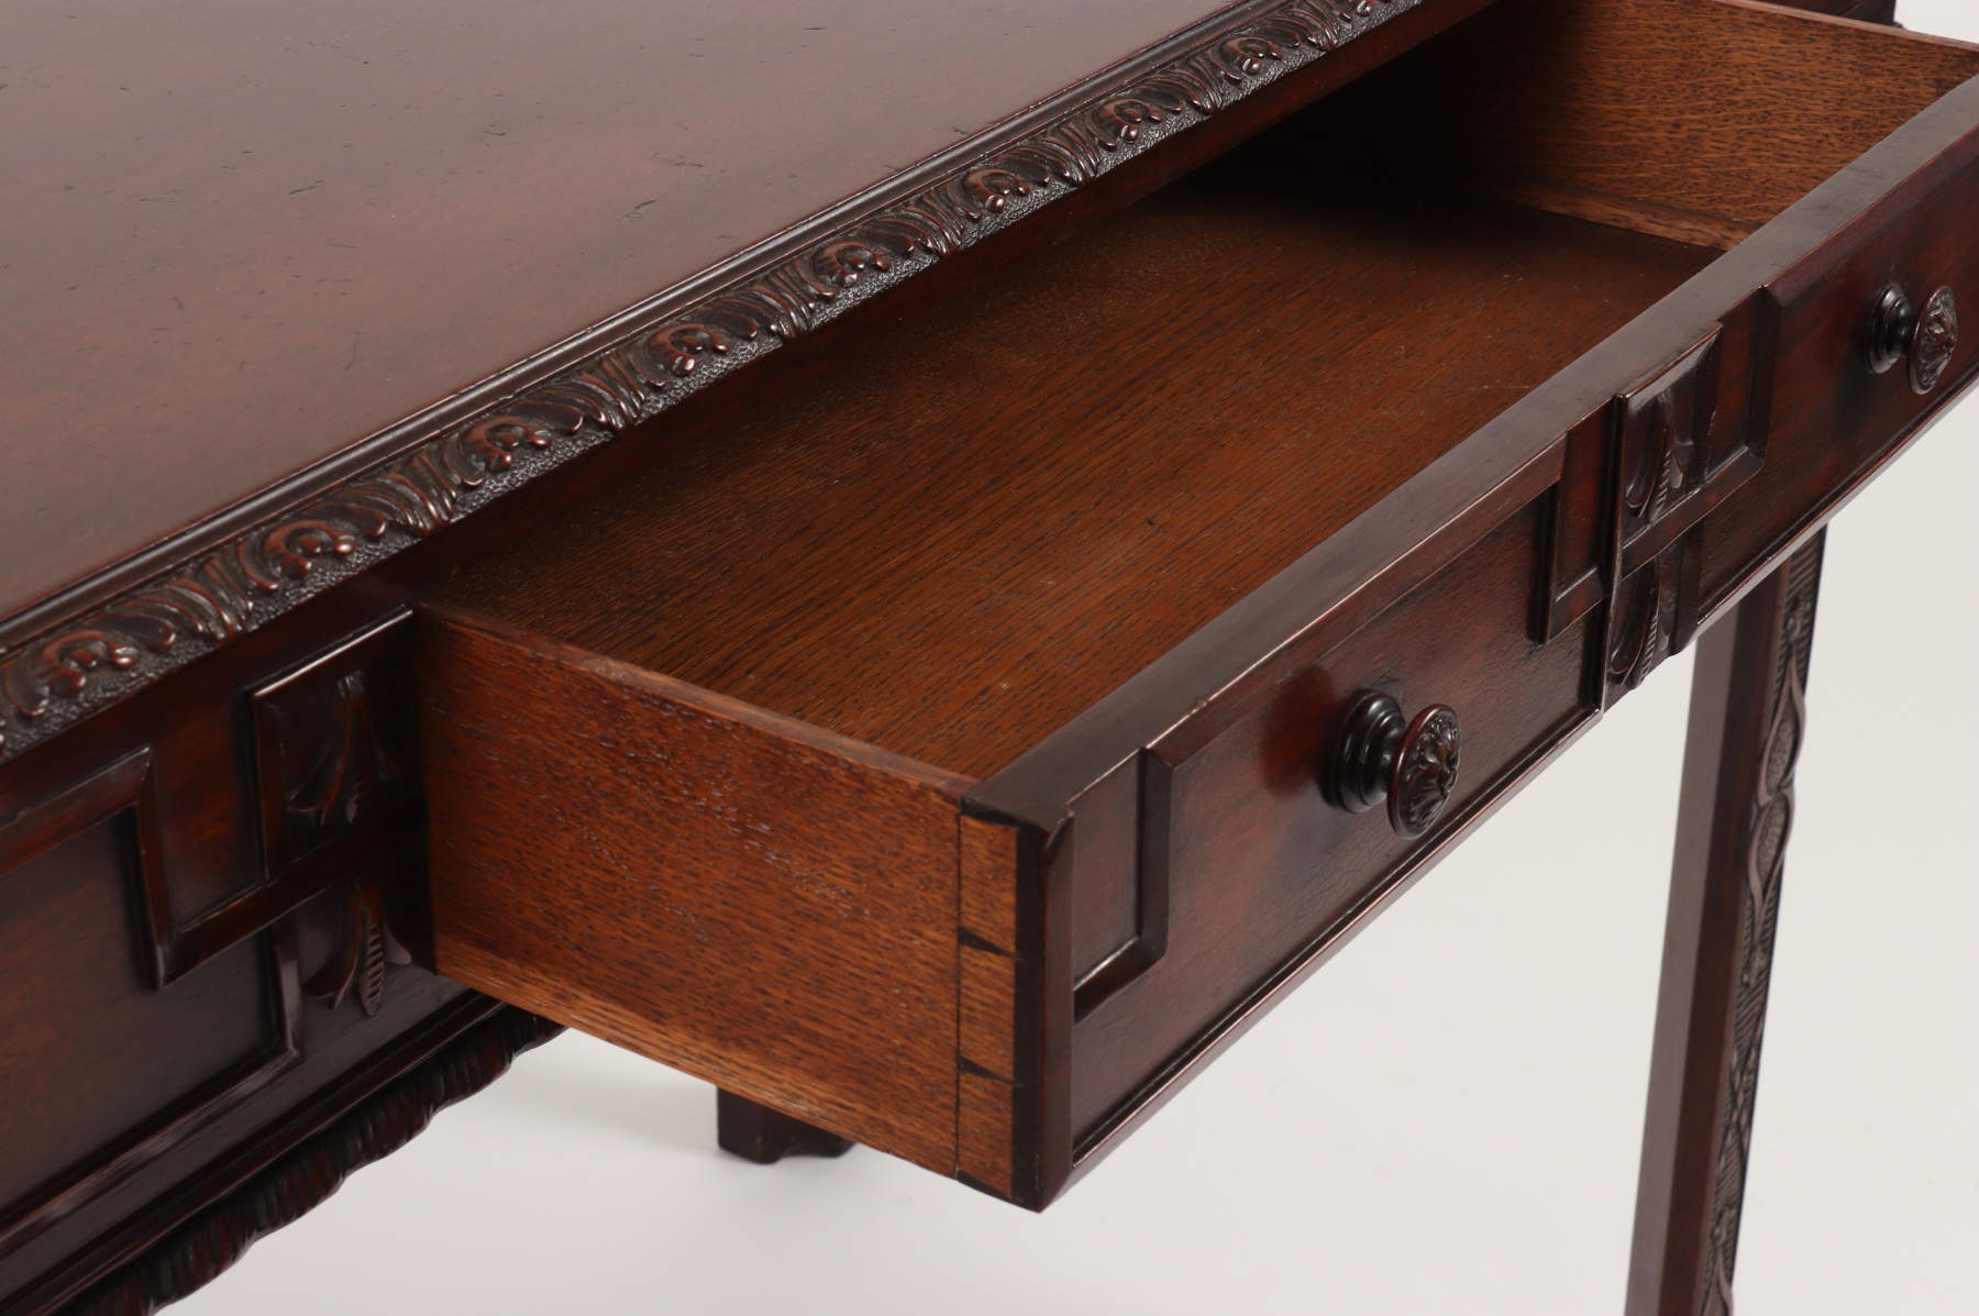
[[[1979,47],[744,8],[0,20],[0,1310],[184,1296],[560,1027],[1043,1209],[1692,643],[1629,1310],[1730,1310]]]

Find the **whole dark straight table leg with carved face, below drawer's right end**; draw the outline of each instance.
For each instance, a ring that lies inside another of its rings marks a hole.
[[[1629,1316],[1728,1316],[1827,534],[1698,643]]]

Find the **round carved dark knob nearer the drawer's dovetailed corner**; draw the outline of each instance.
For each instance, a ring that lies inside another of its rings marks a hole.
[[[1389,825],[1405,837],[1419,837],[1457,790],[1461,744],[1453,708],[1429,705],[1407,720],[1391,697],[1362,691],[1342,724],[1328,794],[1348,813],[1364,813],[1387,799]]]

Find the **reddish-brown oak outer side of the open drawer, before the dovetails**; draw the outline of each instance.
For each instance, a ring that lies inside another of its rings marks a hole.
[[[958,784],[483,617],[420,625],[439,972],[952,1174]]]

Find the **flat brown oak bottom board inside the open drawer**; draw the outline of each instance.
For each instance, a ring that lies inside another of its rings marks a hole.
[[[986,776],[1704,259],[1490,206],[1178,188],[449,596]]]

